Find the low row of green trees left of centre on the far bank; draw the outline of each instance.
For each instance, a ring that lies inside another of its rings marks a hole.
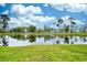
[[[54,29],[53,28],[47,28],[47,26],[44,26],[44,29],[37,29],[33,25],[30,25],[30,26],[19,26],[19,28],[15,28],[15,29],[12,29],[10,32],[39,32],[39,33],[42,33],[42,32],[52,32]]]

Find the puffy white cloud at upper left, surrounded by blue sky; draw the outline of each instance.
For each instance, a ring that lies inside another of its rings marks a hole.
[[[40,7],[34,6],[24,7],[23,4],[13,4],[12,12],[17,14],[41,14],[42,9]]]

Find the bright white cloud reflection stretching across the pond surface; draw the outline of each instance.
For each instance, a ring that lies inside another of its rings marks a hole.
[[[36,36],[36,40],[31,42],[30,41],[31,37],[26,39],[26,40],[18,40],[18,39],[13,39],[11,36],[8,36],[8,45],[9,46],[25,46],[25,45],[32,45],[32,44],[87,44],[87,36],[68,36],[67,42],[65,42],[65,37],[53,37],[53,39],[48,39],[45,40],[44,36],[39,37]],[[2,39],[0,39],[0,45],[2,45]]]

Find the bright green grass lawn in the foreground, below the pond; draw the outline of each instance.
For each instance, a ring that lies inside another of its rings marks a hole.
[[[87,62],[87,45],[0,46],[0,62]]]

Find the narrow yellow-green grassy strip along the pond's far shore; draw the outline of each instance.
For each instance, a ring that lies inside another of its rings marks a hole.
[[[87,33],[22,33],[22,32],[9,32],[9,33],[0,33],[0,35],[61,35],[61,36],[87,36]]]

